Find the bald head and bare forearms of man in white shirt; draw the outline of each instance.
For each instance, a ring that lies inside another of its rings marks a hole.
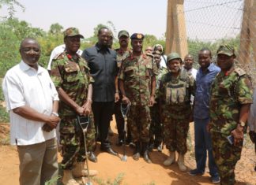
[[[36,42],[35,39],[24,39],[21,42],[20,47],[21,58],[32,68],[38,69],[38,61],[40,59],[40,45]],[[52,112],[58,113],[58,101],[53,102]],[[24,117],[28,120],[35,120],[46,123],[51,129],[56,128],[59,122],[59,117],[51,114],[51,116],[47,116],[43,113],[37,112],[35,109],[32,109],[28,105],[20,106],[13,109],[13,113],[17,113],[17,115]],[[49,129],[49,131],[51,130]]]

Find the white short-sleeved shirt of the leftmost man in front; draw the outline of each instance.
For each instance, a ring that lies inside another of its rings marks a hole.
[[[39,113],[51,115],[53,101],[58,93],[45,68],[31,68],[24,61],[6,72],[2,82],[6,109],[10,117],[10,142],[12,145],[32,145],[56,137],[55,129],[42,130],[43,122],[28,120],[13,113],[13,109],[28,105]]]

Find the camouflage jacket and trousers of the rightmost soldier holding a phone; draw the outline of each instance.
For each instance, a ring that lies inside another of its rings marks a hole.
[[[243,142],[231,145],[227,136],[239,123],[240,107],[252,103],[250,77],[241,68],[220,72],[213,81],[210,99],[210,133],[213,157],[220,174],[221,184],[235,184],[235,164],[239,161]]]

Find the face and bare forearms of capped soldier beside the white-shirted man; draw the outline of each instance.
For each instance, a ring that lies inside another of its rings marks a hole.
[[[66,53],[70,54],[76,60],[78,58],[77,50],[80,47],[80,37],[78,35],[66,37],[64,39],[64,43],[66,44]],[[61,98],[62,101],[65,102],[67,105],[70,105],[70,107],[74,109],[78,115],[87,116],[89,113],[92,112],[92,84],[91,83],[88,85],[87,101],[84,102],[82,106],[74,102],[73,99],[71,99],[69,95],[66,94],[66,92],[61,87],[58,88],[58,95],[59,95],[59,98]]]

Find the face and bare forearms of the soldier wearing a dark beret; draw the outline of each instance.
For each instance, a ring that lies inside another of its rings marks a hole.
[[[132,39],[131,46],[133,47],[133,55],[136,57],[140,57],[142,54],[143,39]],[[126,104],[130,104],[130,99],[126,97],[123,80],[119,80],[119,88],[122,93],[122,102]],[[156,92],[156,76],[152,76],[151,77],[151,96],[149,98],[149,106],[152,106],[155,102],[155,96],[154,96],[155,92]]]

